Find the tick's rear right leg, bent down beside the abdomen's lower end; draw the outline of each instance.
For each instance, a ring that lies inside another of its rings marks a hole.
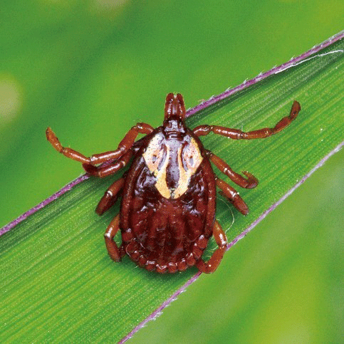
[[[219,248],[216,249],[216,251],[214,251],[209,261],[204,262],[203,259],[199,259],[199,261],[197,261],[197,264],[196,264],[199,271],[202,271],[204,273],[214,272],[219,266],[224,256],[224,252],[226,251],[226,246],[227,246],[226,234],[224,233],[223,229],[221,228],[217,220],[215,220],[214,222],[213,235],[214,235],[215,241],[217,241],[217,245],[219,246]]]

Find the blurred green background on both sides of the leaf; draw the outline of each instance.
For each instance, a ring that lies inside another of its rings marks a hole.
[[[197,105],[338,33],[343,14],[340,0],[1,1],[0,226],[82,172],[47,126],[85,155],[112,150],[160,125],[167,93]],[[343,157],[132,343],[343,343]]]

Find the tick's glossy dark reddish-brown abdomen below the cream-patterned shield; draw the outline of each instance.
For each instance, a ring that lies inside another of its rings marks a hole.
[[[209,164],[207,159],[204,164]],[[155,186],[157,177],[138,158],[133,163],[135,185],[123,192],[120,229],[125,251],[134,261],[152,269],[183,270],[202,256],[204,242],[212,235],[215,185],[209,171],[199,166],[190,177],[189,187],[177,199],[167,199]],[[213,190],[213,191],[212,191]],[[197,243],[202,241],[202,247]],[[147,262],[150,262],[147,264]],[[169,265],[170,264],[170,265]]]

